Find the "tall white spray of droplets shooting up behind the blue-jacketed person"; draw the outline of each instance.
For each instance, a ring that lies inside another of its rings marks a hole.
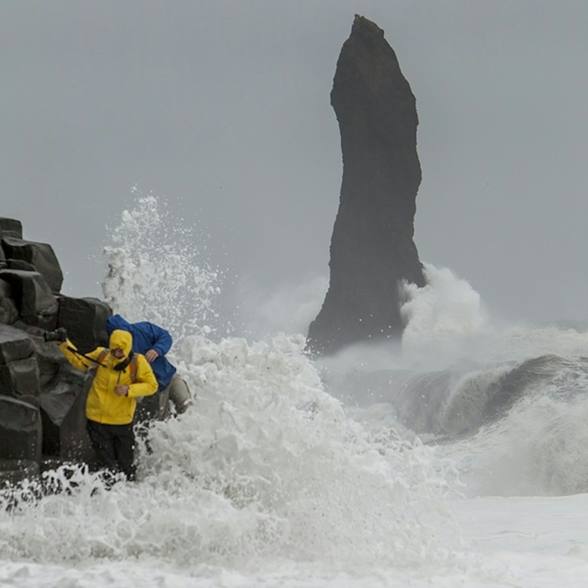
[[[139,196],[111,239],[102,290],[113,312],[130,322],[166,325],[176,337],[216,330],[223,273],[203,259],[193,227],[172,218],[155,196]]]

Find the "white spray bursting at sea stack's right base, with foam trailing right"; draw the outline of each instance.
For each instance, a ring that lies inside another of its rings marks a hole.
[[[501,324],[491,320],[469,282],[447,268],[423,265],[427,285],[403,285],[406,302],[400,312],[406,326],[402,350],[389,362],[390,368],[475,368],[549,353],[566,356],[586,352],[588,331]]]

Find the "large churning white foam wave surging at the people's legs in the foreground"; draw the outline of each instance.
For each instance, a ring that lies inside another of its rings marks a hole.
[[[303,345],[184,339],[175,359],[196,402],[153,423],[139,481],[103,492],[64,478],[65,493],[21,501],[0,513],[0,557],[349,570],[444,559],[448,487],[432,449],[348,419]]]

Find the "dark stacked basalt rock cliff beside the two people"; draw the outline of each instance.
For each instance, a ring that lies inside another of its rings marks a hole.
[[[95,465],[85,417],[92,376],[43,335],[64,327],[81,352],[107,345],[111,309],[62,295],[62,282],[51,245],[23,239],[21,222],[0,218],[0,491],[62,463]]]

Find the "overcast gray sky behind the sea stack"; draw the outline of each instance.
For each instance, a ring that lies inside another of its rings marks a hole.
[[[420,258],[497,315],[587,320],[584,0],[3,0],[0,215],[54,246],[73,296],[99,295],[88,258],[133,185],[249,288],[328,276],[356,13],[416,96]]]

